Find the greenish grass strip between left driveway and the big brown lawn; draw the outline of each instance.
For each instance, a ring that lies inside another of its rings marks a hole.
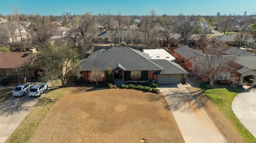
[[[7,143],[28,142],[36,131],[38,125],[45,118],[50,109],[64,96],[68,88],[49,88],[48,93],[44,94],[29,112],[26,118],[20,123],[12,135],[7,139]],[[33,97],[31,97],[33,98]]]

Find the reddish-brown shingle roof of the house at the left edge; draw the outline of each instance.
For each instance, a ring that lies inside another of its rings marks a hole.
[[[19,68],[22,66],[23,61],[27,59],[27,53],[0,53],[0,68]]]

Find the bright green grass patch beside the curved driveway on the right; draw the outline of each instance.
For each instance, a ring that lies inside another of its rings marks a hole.
[[[231,107],[233,99],[238,93],[244,91],[243,88],[226,87],[209,89],[202,84],[200,88],[205,89],[204,94],[210,98],[210,100],[225,114],[228,119],[230,119],[231,123],[248,143],[256,143],[256,138],[239,121]]]

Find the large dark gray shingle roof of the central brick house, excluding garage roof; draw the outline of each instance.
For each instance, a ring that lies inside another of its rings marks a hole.
[[[147,53],[129,48],[113,47],[108,50],[98,50],[87,59],[81,60],[78,65],[81,71],[105,71],[108,67],[120,67],[125,71],[162,71],[163,69],[150,61]]]

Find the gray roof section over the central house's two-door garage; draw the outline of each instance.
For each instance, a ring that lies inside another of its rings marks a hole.
[[[152,59],[150,60],[164,69],[160,74],[188,74],[180,65],[167,61],[165,59]]]

